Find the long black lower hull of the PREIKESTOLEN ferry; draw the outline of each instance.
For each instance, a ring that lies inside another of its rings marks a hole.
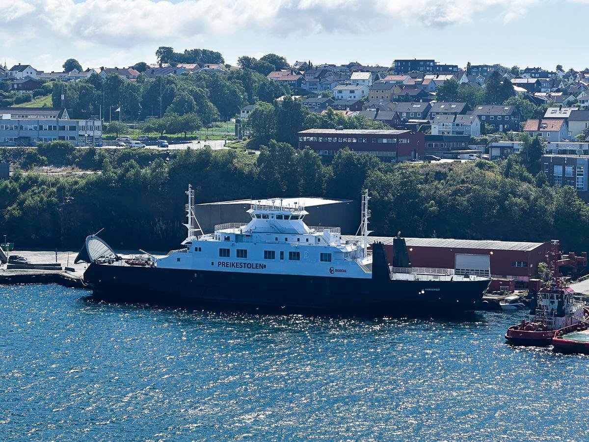
[[[114,301],[375,311],[472,311],[489,280],[403,281],[164,269],[92,263],[84,281]]]

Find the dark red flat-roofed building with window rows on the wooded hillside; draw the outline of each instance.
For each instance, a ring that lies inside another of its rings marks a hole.
[[[331,159],[349,147],[375,155],[382,161],[408,161],[425,154],[425,136],[410,130],[308,129],[298,133],[299,149],[309,147]]]

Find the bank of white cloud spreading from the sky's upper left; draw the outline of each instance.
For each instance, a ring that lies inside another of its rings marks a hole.
[[[390,29],[395,35],[407,25],[422,31],[478,19],[501,24],[542,2],[547,0],[0,0],[0,50],[15,58],[16,45],[37,48],[24,54],[32,59],[67,49],[72,55],[97,48],[153,54],[159,45],[181,50],[180,42],[196,47],[205,38],[239,39],[243,32],[260,41],[297,33]]]

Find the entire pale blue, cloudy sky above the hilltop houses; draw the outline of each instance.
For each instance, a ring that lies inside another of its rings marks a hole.
[[[0,62],[127,67],[171,46],[219,51],[230,64],[274,52],[291,63],[580,70],[587,34],[575,23],[588,12],[589,0],[0,0]]]

